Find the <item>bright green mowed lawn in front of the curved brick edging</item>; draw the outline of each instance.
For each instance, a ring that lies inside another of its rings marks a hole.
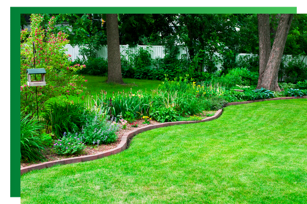
[[[119,154],[21,175],[19,203],[307,203],[307,99],[226,107]]]

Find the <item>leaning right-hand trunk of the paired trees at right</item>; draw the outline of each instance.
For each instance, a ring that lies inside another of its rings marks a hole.
[[[281,91],[278,86],[278,70],[284,50],[284,45],[286,44],[290,25],[293,19],[293,15],[294,14],[282,14],[280,16],[270,57],[266,65],[262,79],[260,82],[258,81],[257,89],[263,87],[271,91]],[[259,48],[260,48],[260,39],[259,39]]]

